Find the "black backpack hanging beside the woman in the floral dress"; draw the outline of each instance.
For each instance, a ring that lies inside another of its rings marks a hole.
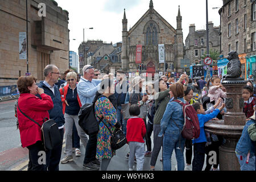
[[[92,104],[85,104],[81,107],[79,111],[79,126],[85,131],[87,135],[98,133],[98,122],[95,116],[94,105],[98,98],[105,96],[98,96],[94,98]]]

